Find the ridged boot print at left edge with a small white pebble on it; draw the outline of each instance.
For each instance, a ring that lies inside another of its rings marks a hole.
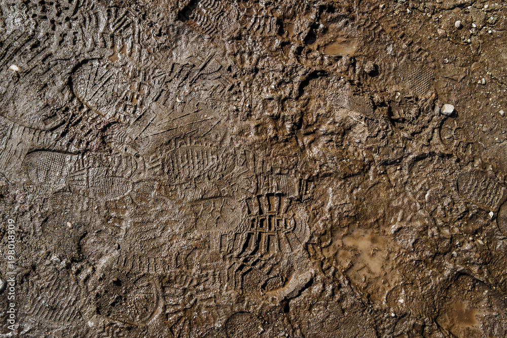
[[[66,83],[72,65],[60,58],[58,50],[50,50],[53,43],[51,35],[18,30],[4,41],[0,47],[0,73],[5,81],[0,115],[41,130],[55,130],[64,124],[64,109],[71,95]]]

